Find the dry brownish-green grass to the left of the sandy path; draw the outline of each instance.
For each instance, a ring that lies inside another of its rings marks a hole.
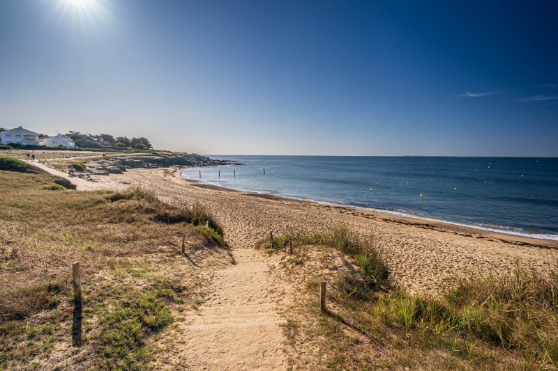
[[[142,189],[44,190],[59,189],[60,179],[0,171],[0,370],[164,364],[158,339],[201,290],[199,268],[181,254],[182,236],[190,258],[212,266],[230,264],[216,242],[223,236],[191,221],[158,221],[186,211]],[[82,266],[79,311],[70,281],[75,261]]]

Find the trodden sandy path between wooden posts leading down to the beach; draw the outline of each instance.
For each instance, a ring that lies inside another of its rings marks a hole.
[[[236,265],[207,271],[209,296],[188,315],[179,349],[182,367],[192,370],[281,370],[284,338],[273,300],[273,276],[262,254],[233,251]]]

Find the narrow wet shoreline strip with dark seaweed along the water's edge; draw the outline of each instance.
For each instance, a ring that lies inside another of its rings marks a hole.
[[[206,182],[202,182],[199,180],[192,180],[186,179],[182,177],[181,173],[179,173],[179,178],[184,182],[187,182],[194,187],[202,188],[202,189],[213,189],[216,191],[224,191],[224,192],[232,192],[235,194],[241,194],[243,196],[250,196],[255,198],[263,198],[266,200],[282,200],[282,201],[289,201],[294,203],[306,203],[304,200],[300,200],[297,198],[289,198],[285,196],[276,196],[271,194],[259,194],[256,192],[250,191],[241,191],[239,189],[228,188],[223,186],[218,186],[215,184],[209,184]],[[359,212],[365,217],[369,216],[378,216],[377,219],[382,219],[383,221],[388,221],[391,223],[402,223],[407,224],[409,226],[416,226],[418,228],[438,228],[439,230],[446,230],[448,232],[456,232],[456,233],[465,233],[472,235],[485,235],[488,238],[498,239],[499,241],[506,242],[508,244],[516,244],[521,246],[534,246],[540,248],[557,248],[558,249],[558,239],[544,239],[544,238],[537,238],[537,237],[527,237],[522,235],[515,235],[513,233],[505,233],[505,232],[497,232],[494,230],[487,230],[483,228],[476,228],[474,226],[465,226],[458,223],[451,223],[447,221],[438,221],[433,219],[421,219],[418,217],[413,216],[402,216],[402,215],[394,215],[389,214],[387,212],[369,212],[366,210],[362,210],[359,207],[354,206],[345,206],[345,205],[334,205],[331,203],[324,203],[320,201],[310,200],[308,201],[311,205],[321,205],[323,207],[331,207],[340,210],[347,210],[352,212]],[[483,237],[480,237],[483,238]]]

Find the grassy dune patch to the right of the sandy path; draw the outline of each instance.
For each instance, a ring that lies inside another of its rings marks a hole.
[[[345,226],[290,240],[298,257],[282,265],[296,266],[293,279],[306,276],[305,304],[297,306],[306,315],[285,334],[295,349],[314,343],[323,361],[317,368],[557,368],[558,262],[545,275],[518,263],[507,273],[448,279],[442,292],[428,296],[400,287],[373,239]],[[271,248],[269,239],[258,245]],[[312,249],[348,255],[357,273],[343,264],[324,272],[329,263],[317,265],[322,258],[312,258]],[[316,317],[323,279],[330,281],[330,311]]]

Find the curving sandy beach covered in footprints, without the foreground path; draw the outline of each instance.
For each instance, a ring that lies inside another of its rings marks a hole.
[[[329,230],[346,224],[372,237],[382,248],[395,278],[413,292],[437,292],[444,278],[478,271],[510,271],[515,262],[546,271],[558,259],[555,241],[503,235],[446,223],[362,212],[346,207],[304,203],[243,194],[180,178],[169,169],[134,169],[78,182],[78,189],[124,189],[140,185],[169,203],[183,200],[206,205],[223,226],[234,249],[252,248],[270,231],[286,233]]]

